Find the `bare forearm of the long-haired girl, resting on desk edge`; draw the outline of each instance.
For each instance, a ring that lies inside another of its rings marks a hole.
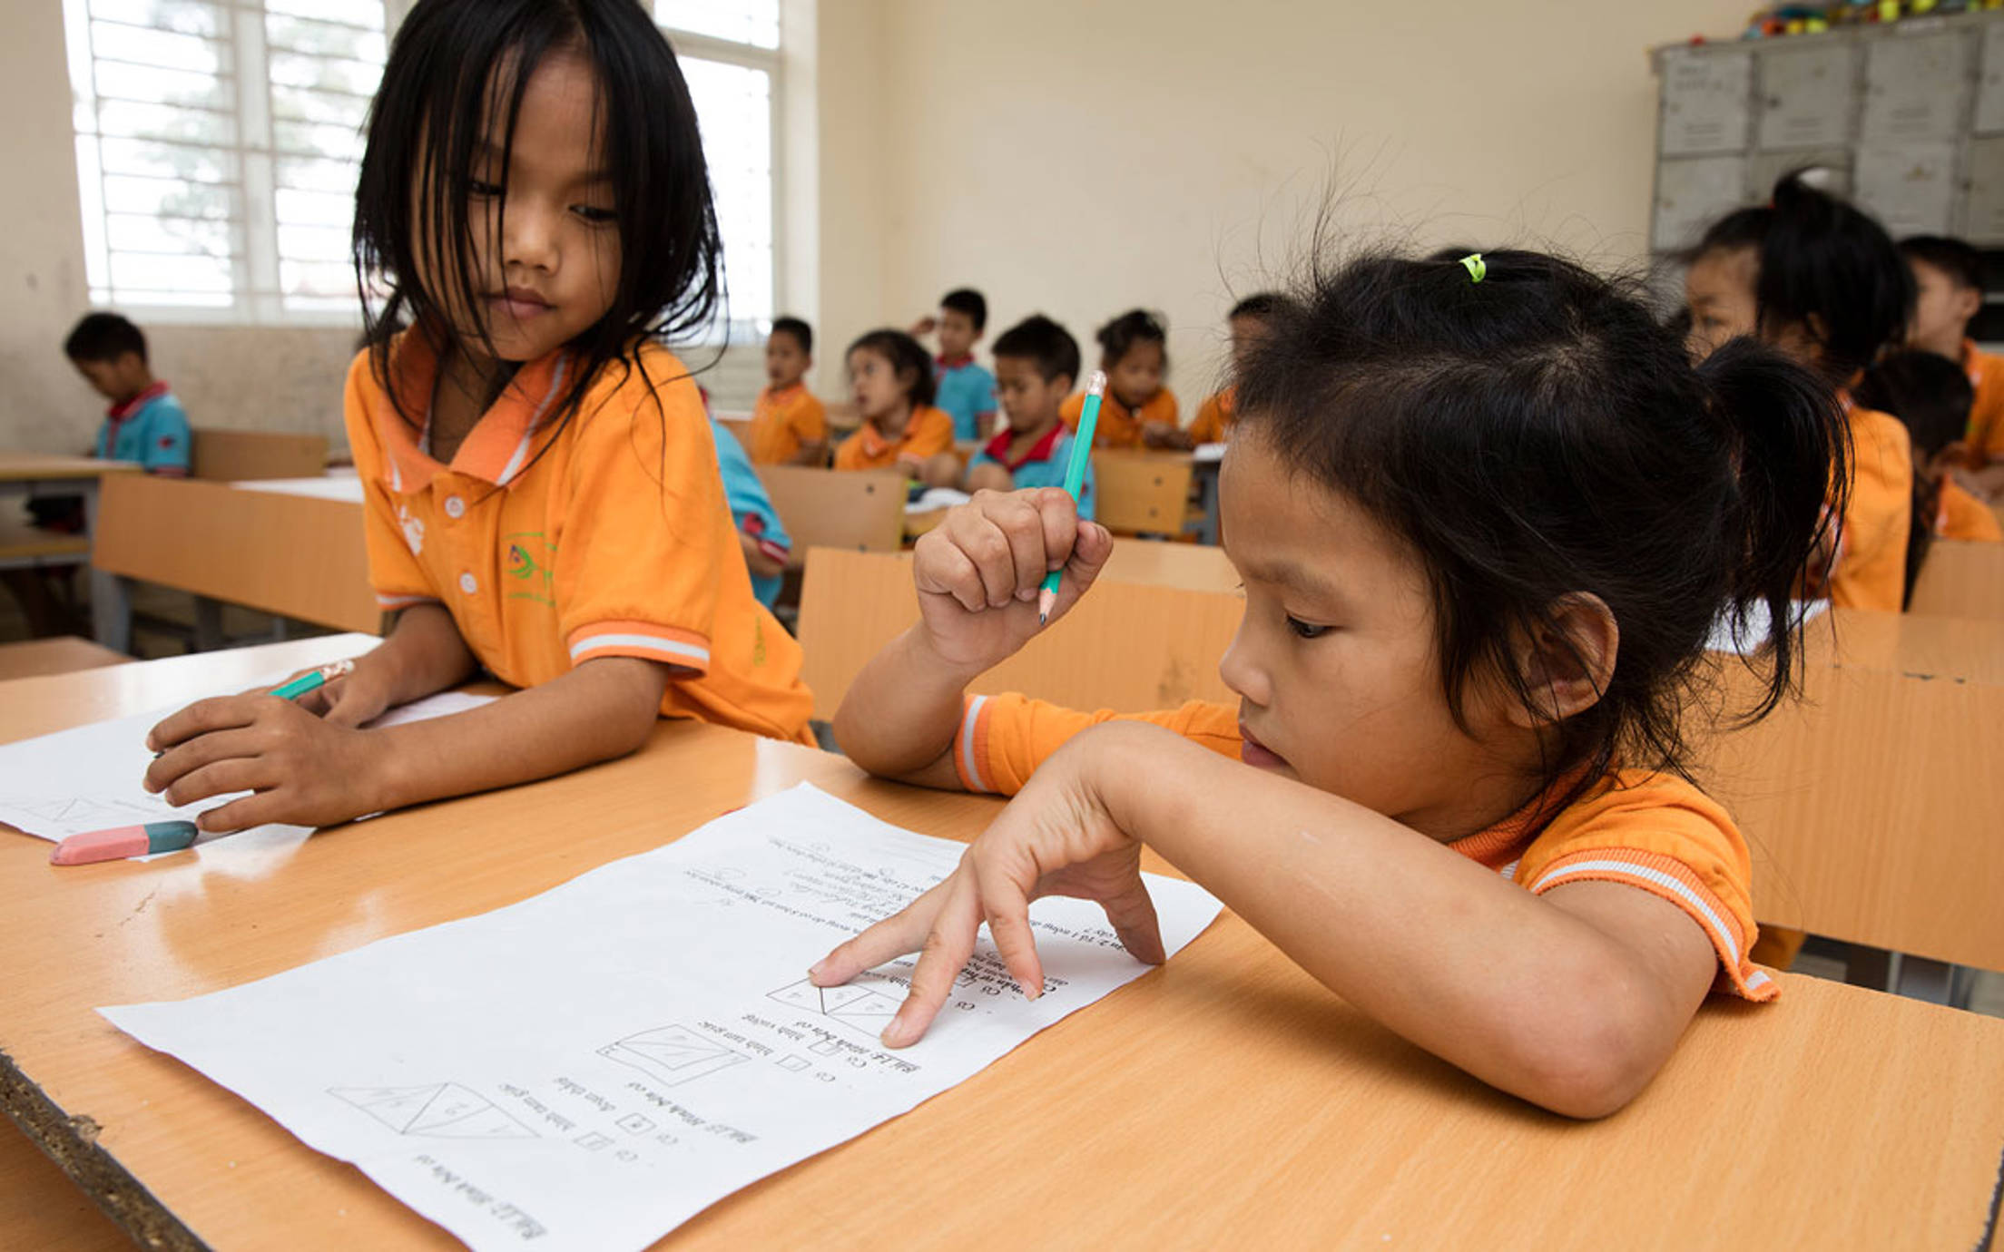
[[[511,787],[621,757],[647,741],[667,669],[601,657],[479,709],[381,735],[377,807]]]

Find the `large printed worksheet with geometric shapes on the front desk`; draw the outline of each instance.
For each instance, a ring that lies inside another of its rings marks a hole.
[[[645,1248],[1146,972],[1098,905],[1040,899],[1042,998],[984,931],[932,1032],[884,1048],[910,958],[828,990],[808,966],[962,851],[804,783],[511,907],[100,1012],[471,1248]],[[1148,891],[1170,954],[1218,913]]]

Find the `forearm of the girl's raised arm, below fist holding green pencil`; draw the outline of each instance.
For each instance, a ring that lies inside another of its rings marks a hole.
[[[898,635],[856,675],[836,709],[836,743],[870,773],[960,789],[954,735],[976,675],[940,661],[922,631]]]

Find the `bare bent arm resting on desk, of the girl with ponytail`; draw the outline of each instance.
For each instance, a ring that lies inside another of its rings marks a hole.
[[[1611,899],[1609,927],[1555,903],[1575,887],[1531,895],[1337,795],[1154,727],[1114,733],[1132,743],[1094,773],[1122,829],[1347,1002],[1507,1092],[1575,1116],[1619,1108],[1711,982],[1697,925],[1643,891],[1581,883],[1597,895],[1571,901]],[[1667,978],[1623,942],[1647,946],[1657,925],[1679,962]]]

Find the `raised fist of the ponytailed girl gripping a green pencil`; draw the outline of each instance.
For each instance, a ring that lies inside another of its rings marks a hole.
[[[912,581],[932,651],[954,667],[984,671],[1042,629],[1036,593],[1062,567],[1050,621],[1078,603],[1114,551],[1098,523],[1058,487],[980,491],[952,509],[912,551]],[[1048,625],[1048,623],[1046,623]]]

